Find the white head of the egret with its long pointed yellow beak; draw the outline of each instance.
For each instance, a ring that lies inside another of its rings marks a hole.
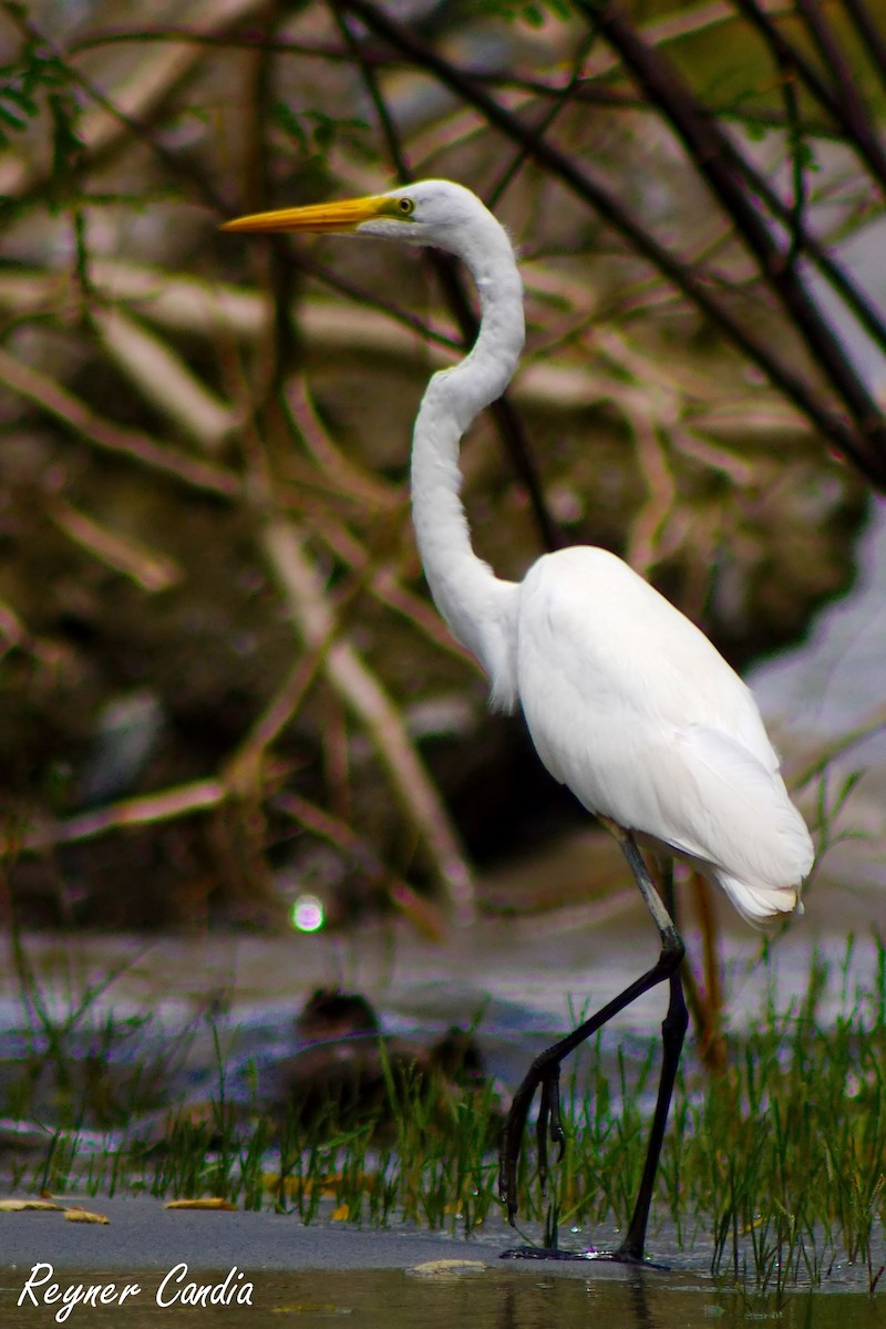
[[[472,237],[501,231],[491,213],[464,185],[449,179],[424,179],[387,194],[348,198],[308,207],[282,207],[224,222],[224,231],[302,231],[343,235],[375,235],[381,239],[433,245],[464,254]]]

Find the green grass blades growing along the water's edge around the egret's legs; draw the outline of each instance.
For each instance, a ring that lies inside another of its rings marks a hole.
[[[761,1017],[751,1033],[728,1039],[728,1070],[711,1076],[687,1058],[658,1180],[652,1249],[658,1227],[684,1249],[704,1251],[712,1273],[745,1285],[780,1292],[818,1284],[834,1264],[851,1261],[866,1271],[871,1290],[877,1286],[886,1211],[886,946],[870,945],[877,958],[870,991],[850,990],[851,946],[841,966],[816,960],[802,999],[786,1011],[776,1009],[765,970]],[[842,1014],[825,1022],[822,997],[834,991]],[[547,1195],[534,1176],[534,1135],[527,1135],[519,1195],[521,1219],[530,1224],[550,1229],[555,1219],[563,1231],[622,1225],[628,1216],[658,1050],[651,1041],[648,1057],[628,1065],[620,1055],[606,1061],[607,1046],[612,1035],[604,1034],[565,1092],[567,1143]],[[57,1067],[57,1039],[50,1050]],[[336,1216],[466,1233],[501,1223],[493,1144],[499,1104],[491,1087],[445,1091],[387,1067],[384,1126],[377,1116],[336,1122],[332,1112],[310,1127],[280,1126],[258,1107],[243,1119],[226,1095],[218,1043],[217,1055],[218,1091],[205,1119],[182,1115],[159,1142],[133,1132],[120,1147],[88,1152],[76,1130],[88,1111],[81,1103],[72,1128],[58,1130],[43,1156],[13,1164],[13,1184],[211,1193],[251,1209],[295,1212],[306,1223]],[[33,1080],[33,1066],[28,1075]],[[61,1078],[70,1112],[77,1076],[68,1069]],[[132,1082],[141,1083],[138,1075]],[[155,1104],[154,1080],[145,1082]],[[81,1080],[84,1094],[89,1083]],[[21,1114],[21,1086],[12,1098]],[[579,1104],[571,1114],[570,1102]],[[138,1103],[129,1115],[137,1118]]]

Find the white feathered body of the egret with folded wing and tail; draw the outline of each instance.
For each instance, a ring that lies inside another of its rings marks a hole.
[[[521,587],[519,695],[547,769],[591,811],[697,860],[751,921],[793,909],[812,843],[748,687],[606,550]]]

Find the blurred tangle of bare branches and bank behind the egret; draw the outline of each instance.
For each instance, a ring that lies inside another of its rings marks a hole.
[[[462,274],[218,233],[429,175],[526,283],[464,449],[478,552],[599,544],[703,626],[814,827],[813,921],[882,924],[874,9],[0,4],[8,924],[642,920],[424,586],[410,425]]]

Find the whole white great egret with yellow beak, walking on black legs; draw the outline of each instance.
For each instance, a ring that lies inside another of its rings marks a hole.
[[[813,863],[806,825],[788,797],[751,691],[703,633],[627,563],[604,549],[574,546],[545,554],[522,582],[510,582],[474,553],[458,496],[460,443],[505,391],[525,336],[514,251],[481,201],[461,185],[430,179],[369,198],[243,217],[224,229],[429,245],[457,255],[473,275],[482,315],[477,342],[460,364],[433,375],[414,425],[412,513],[421,561],[437,609],[489,675],[491,706],[511,711],[519,703],[547,769],[619,840],[662,942],[655,965],[533,1062],[505,1126],[499,1189],[513,1223],[517,1163],[535,1091],[545,1179],[546,1135],[563,1143],[562,1061],[667,981],[662,1079],[634,1215],[616,1251],[587,1252],[642,1261],[687,1007],[683,942],[638,840],[688,860],[751,924],[765,925],[798,906]]]

